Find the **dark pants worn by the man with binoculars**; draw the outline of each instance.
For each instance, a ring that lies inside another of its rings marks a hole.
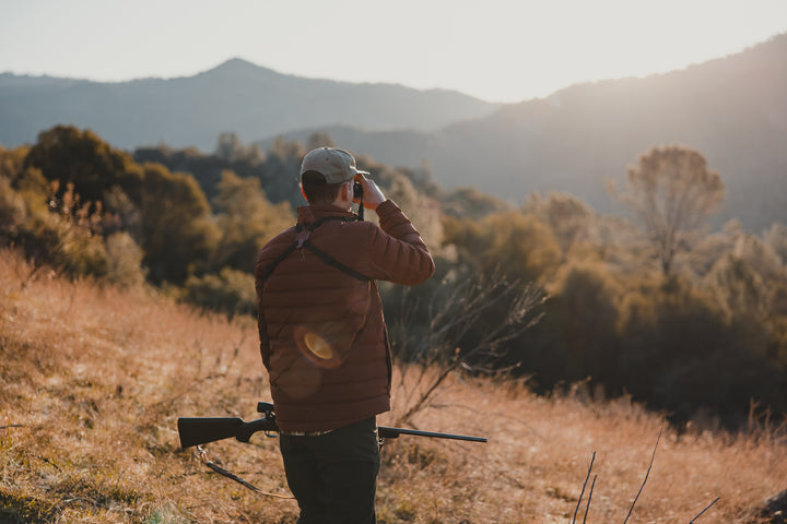
[[[375,417],[317,437],[279,439],[298,524],[374,524],[379,444]]]

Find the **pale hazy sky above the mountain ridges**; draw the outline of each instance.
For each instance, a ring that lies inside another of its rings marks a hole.
[[[0,72],[174,78],[237,57],[518,102],[782,33],[787,0],[0,0]]]

